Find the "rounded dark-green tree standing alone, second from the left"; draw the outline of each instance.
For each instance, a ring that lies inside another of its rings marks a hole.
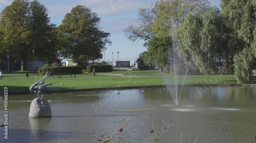
[[[94,58],[90,60],[101,59],[105,45],[112,42],[109,39],[110,33],[99,30],[99,22],[98,15],[84,6],[78,5],[67,13],[58,26],[62,55],[77,63],[80,55]]]

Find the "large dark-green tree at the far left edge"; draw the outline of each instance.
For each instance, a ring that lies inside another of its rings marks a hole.
[[[24,70],[24,61],[34,57],[32,50],[39,58],[52,55],[54,44],[49,45],[47,37],[53,41],[54,25],[50,24],[44,5],[37,1],[15,0],[0,17],[0,33],[3,34],[0,48],[22,62],[21,70]]]

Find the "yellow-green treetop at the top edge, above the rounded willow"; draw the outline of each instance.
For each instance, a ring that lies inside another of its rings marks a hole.
[[[160,0],[155,4],[156,18],[153,32],[157,35],[172,35],[191,11],[203,12],[209,7],[208,0]]]

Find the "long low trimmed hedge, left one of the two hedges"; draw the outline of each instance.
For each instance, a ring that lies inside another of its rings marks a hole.
[[[72,66],[72,67],[42,67],[38,68],[37,72],[39,74],[46,74],[47,71],[51,71],[53,74],[58,73],[82,73],[81,66]]]

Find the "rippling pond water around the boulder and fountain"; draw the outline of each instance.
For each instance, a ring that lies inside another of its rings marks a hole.
[[[185,86],[176,106],[167,88],[45,94],[52,118],[29,118],[37,96],[9,95],[8,139],[0,142],[98,142],[112,135],[119,121],[131,120],[114,139],[152,142],[253,142],[256,89],[253,86]],[[117,94],[120,92],[120,94]],[[4,114],[1,97],[0,111]],[[5,118],[0,117],[3,124]],[[114,142],[113,140],[112,142]]]

